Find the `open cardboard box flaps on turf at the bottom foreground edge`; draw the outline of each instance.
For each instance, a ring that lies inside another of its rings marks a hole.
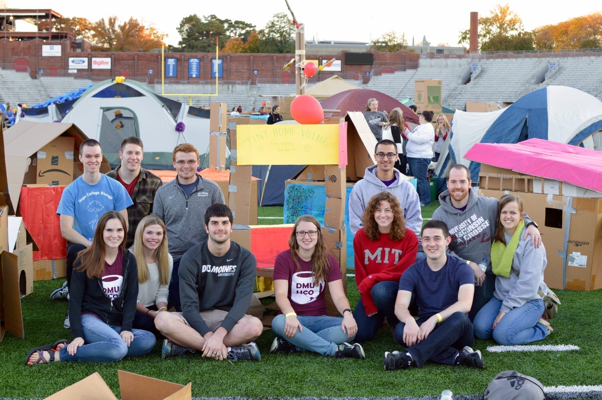
[[[144,377],[118,370],[119,390],[122,400],[190,400],[192,383],[186,386],[177,383]],[[98,372],[60,390],[46,400],[117,400],[113,390]]]

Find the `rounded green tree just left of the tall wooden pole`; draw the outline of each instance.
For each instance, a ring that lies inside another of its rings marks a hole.
[[[258,32],[261,53],[294,53],[295,30],[288,14],[276,13]]]

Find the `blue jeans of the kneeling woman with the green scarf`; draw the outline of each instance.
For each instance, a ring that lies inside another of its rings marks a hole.
[[[474,336],[478,339],[493,338],[498,345],[510,346],[525,345],[548,336],[548,329],[538,323],[545,307],[541,298],[527,301],[523,306],[510,310],[494,329],[493,322],[500,312],[501,304],[500,300],[492,297],[477,313],[474,318]]]

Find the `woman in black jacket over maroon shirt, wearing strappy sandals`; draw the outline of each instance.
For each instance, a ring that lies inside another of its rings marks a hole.
[[[32,349],[25,365],[57,361],[112,362],[142,355],[155,346],[155,335],[132,329],[138,297],[138,268],[125,251],[128,225],[108,211],[96,225],[92,245],[78,254],[69,288],[73,342]],[[85,344],[84,344],[85,343]]]

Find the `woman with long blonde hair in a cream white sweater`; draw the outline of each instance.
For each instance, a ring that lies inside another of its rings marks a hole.
[[[134,253],[138,263],[138,302],[133,326],[157,335],[155,316],[167,311],[173,268],[172,255],[167,251],[165,224],[161,218],[154,215],[142,218],[136,229],[134,245],[129,251]]]

